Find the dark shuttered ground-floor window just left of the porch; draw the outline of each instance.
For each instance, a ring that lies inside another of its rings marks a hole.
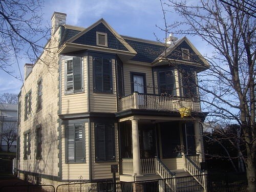
[[[95,123],[95,160],[114,161],[115,128],[113,123]]]

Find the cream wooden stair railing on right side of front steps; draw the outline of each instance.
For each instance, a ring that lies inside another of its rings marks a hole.
[[[185,170],[194,177],[195,180],[204,188],[204,191],[207,191],[206,186],[206,175],[199,168],[199,156],[187,156],[184,155],[185,160]]]

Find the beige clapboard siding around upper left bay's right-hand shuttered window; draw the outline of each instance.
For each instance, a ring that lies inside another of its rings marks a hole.
[[[112,59],[112,83],[113,94],[93,93],[93,57],[89,56],[90,63],[90,111],[91,112],[104,112],[115,113],[117,112],[116,101],[116,77],[115,77],[115,60]]]

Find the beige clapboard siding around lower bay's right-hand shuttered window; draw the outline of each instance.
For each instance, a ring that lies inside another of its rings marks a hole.
[[[118,133],[117,123],[115,123],[115,145],[116,145],[116,161],[112,162],[95,162],[95,137],[94,137],[94,123],[91,123],[91,140],[92,140],[92,179],[108,179],[112,178],[111,165],[118,164]],[[120,167],[119,167],[120,168]],[[119,177],[119,173],[116,173]]]

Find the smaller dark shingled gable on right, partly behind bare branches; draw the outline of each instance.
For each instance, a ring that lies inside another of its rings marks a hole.
[[[189,50],[189,60],[182,58],[182,49]],[[209,63],[196,49],[196,47],[188,40],[187,37],[182,37],[174,41],[173,44],[171,44],[166,49],[166,51],[160,54],[159,57],[152,62],[152,64],[153,66],[160,65],[160,63],[166,59],[168,59],[169,61],[182,61],[187,65],[196,65],[197,67],[209,67]]]

